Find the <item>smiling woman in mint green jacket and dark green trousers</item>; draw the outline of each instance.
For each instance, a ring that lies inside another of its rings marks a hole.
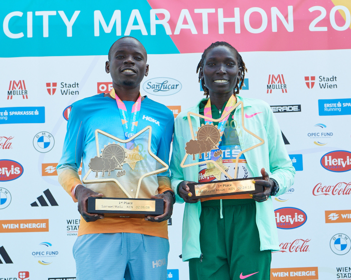
[[[227,42],[215,42],[203,53],[199,62],[199,81],[206,97],[187,110],[182,111],[174,123],[173,152],[170,163],[171,186],[177,202],[186,202],[183,217],[183,261],[189,261],[190,279],[249,280],[269,279],[271,251],[279,250],[278,235],[271,195],[285,193],[294,182],[295,169],[285,149],[281,130],[270,106],[258,99],[238,96],[244,83],[245,63],[238,51]],[[223,136],[210,154],[188,156],[186,143],[192,139],[205,118],[188,112],[206,115],[214,119],[221,117],[236,102],[243,103],[244,126],[264,140],[264,143],[237,154],[261,140],[243,129],[242,108],[239,104],[223,122],[214,122]],[[222,152],[220,152],[220,149]],[[214,153],[217,151],[217,153]],[[220,154],[221,153],[221,154]],[[220,154],[220,155],[218,155]],[[256,184],[264,191],[255,194],[217,196],[189,199],[189,182],[216,181],[227,179],[216,171],[214,165],[201,163],[205,159],[216,160],[228,174],[238,178],[262,176]]]

